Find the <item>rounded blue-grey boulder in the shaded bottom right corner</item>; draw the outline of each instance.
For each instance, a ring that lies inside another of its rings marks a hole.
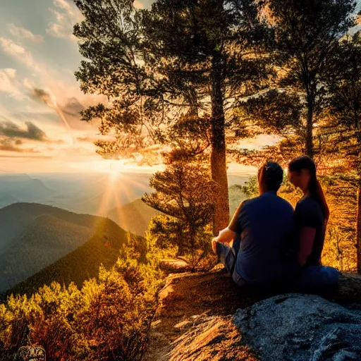
[[[263,361],[361,360],[361,307],[288,293],[239,309],[233,322]]]

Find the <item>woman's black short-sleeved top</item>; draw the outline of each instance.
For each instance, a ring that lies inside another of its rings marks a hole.
[[[302,227],[316,228],[312,252],[305,266],[321,264],[322,248],[324,247],[324,216],[318,202],[310,195],[306,195],[296,204],[295,227],[298,235],[300,235]]]

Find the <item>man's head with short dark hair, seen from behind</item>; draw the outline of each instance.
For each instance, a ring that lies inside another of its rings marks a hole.
[[[269,161],[258,170],[259,192],[277,192],[283,182],[283,169],[275,161]]]

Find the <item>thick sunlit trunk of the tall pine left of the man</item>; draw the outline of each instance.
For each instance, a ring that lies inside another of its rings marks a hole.
[[[221,74],[221,54],[217,51],[212,59],[212,116],[211,116],[211,156],[212,179],[220,185],[216,200],[213,233],[218,235],[229,223],[228,180],[226,165],[226,137],[224,121],[223,79]]]

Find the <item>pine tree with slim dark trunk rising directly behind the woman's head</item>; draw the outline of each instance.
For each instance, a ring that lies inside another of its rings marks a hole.
[[[268,0],[264,4],[275,36],[269,59],[278,68],[278,77],[274,89],[251,97],[240,109],[256,118],[266,132],[286,138],[283,149],[289,154],[314,157],[321,147],[318,122],[327,102],[324,78],[339,39],[354,25],[355,1]]]

